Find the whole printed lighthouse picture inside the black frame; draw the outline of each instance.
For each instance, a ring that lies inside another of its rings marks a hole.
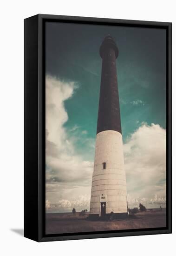
[[[46,22],[46,234],[166,227],[166,30]]]

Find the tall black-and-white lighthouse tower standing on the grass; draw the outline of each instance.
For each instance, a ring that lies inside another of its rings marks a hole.
[[[117,87],[118,48],[108,35],[100,47],[102,58],[97,136],[91,186],[90,218],[128,216],[126,175]]]

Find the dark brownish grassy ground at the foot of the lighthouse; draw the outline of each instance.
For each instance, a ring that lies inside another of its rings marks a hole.
[[[72,232],[88,232],[103,230],[122,230],[122,229],[146,229],[159,228],[166,226],[166,210],[159,209],[139,212],[124,220],[113,221],[89,221],[86,220],[89,213],[85,216],[75,216],[72,213],[50,213],[46,214],[46,234],[60,234]]]

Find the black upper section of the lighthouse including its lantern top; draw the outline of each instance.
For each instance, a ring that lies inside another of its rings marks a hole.
[[[101,44],[100,56],[102,57],[102,73],[97,134],[106,130],[122,133],[116,71],[118,48],[110,35],[106,36]]]

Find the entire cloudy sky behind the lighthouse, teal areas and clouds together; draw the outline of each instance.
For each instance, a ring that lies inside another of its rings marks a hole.
[[[166,31],[46,22],[46,209],[88,209],[102,59],[117,43],[129,206],[166,197]],[[153,207],[155,208],[155,207]]]

